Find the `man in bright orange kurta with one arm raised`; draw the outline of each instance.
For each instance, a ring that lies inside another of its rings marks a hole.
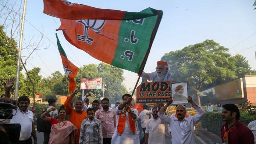
[[[78,132],[76,133],[76,136],[75,136],[76,144],[79,143],[79,133],[80,133],[80,127],[81,127],[82,120],[87,118],[87,113],[85,111],[83,111],[83,101],[81,99],[78,99],[77,101],[75,101],[75,109],[72,108],[70,105],[72,98],[78,92],[79,92],[78,90],[72,91],[71,95],[68,96],[67,100],[64,102],[64,107],[67,110],[70,122],[73,123],[78,129]]]

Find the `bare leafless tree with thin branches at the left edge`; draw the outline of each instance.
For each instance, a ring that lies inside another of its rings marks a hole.
[[[6,1],[5,3],[2,1],[0,2],[1,6],[3,6],[3,8],[0,9],[0,22],[1,25],[5,26],[3,31],[6,32],[6,35],[3,35],[4,38],[12,45],[12,47],[17,48],[17,44],[15,42],[15,39],[18,37],[19,33],[20,33],[20,29],[19,26],[21,25],[21,3],[17,4],[15,3],[9,3],[9,1]],[[35,50],[39,50],[39,49],[46,49],[50,46],[50,44],[47,46],[44,46],[44,39],[45,36],[43,34],[43,32],[39,32],[39,39],[36,40],[34,39],[34,36],[32,36],[32,38],[28,38],[27,40],[25,39],[25,36],[22,35],[22,37],[24,37],[24,46],[22,48],[23,49],[27,49],[28,51],[28,55],[23,55],[23,57],[21,57],[21,63],[22,66],[24,68],[24,70],[26,71],[26,75],[27,78],[29,79],[30,83],[32,84],[32,89],[33,89],[33,100],[35,101],[35,83],[33,83],[33,80],[31,79],[28,70],[26,69],[26,61],[28,60],[28,58],[32,55],[32,53]],[[16,49],[16,52],[18,50]],[[22,58],[24,58],[24,60],[22,60]],[[35,107],[35,102],[33,104],[33,106]]]

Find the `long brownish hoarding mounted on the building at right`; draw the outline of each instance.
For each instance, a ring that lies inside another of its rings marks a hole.
[[[244,98],[242,78],[232,80],[215,87],[211,87],[200,92],[200,96],[207,96],[208,93],[213,93],[216,100],[228,100],[234,98]]]

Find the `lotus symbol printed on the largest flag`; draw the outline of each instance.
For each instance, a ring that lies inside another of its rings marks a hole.
[[[92,44],[94,41],[92,37],[88,36],[89,28],[91,28],[94,32],[101,34],[100,29],[103,28],[104,24],[106,23],[106,20],[103,19],[80,19],[75,20],[78,23],[83,24],[83,35],[77,35],[77,40],[80,40],[82,42]]]

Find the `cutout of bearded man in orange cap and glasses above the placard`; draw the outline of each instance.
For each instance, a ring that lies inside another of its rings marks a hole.
[[[152,80],[152,82],[171,81],[171,73],[168,72],[168,64],[165,61],[158,61],[155,72],[142,72],[141,77],[147,80]]]

